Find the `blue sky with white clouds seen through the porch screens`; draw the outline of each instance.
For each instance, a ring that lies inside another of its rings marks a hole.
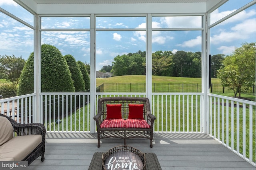
[[[211,14],[211,23],[218,21],[251,0],[229,0]],[[0,7],[33,25],[33,16],[12,0],[0,0]],[[200,27],[200,17],[154,17],[153,28]],[[98,17],[96,28],[145,28],[145,17]],[[42,28],[90,28],[88,17],[42,18]],[[242,43],[256,41],[256,5],[240,12],[211,29],[211,54],[230,55]],[[201,31],[153,31],[154,51],[202,51]],[[90,63],[89,31],[44,31],[42,43],[57,47],[62,55]],[[145,31],[97,31],[96,70],[111,65],[114,57],[146,51]],[[33,30],[0,12],[0,55],[22,56],[33,51]]]

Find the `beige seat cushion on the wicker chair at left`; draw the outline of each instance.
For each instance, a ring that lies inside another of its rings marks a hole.
[[[17,136],[0,146],[0,160],[13,158],[14,161],[23,160],[42,142],[41,135]]]

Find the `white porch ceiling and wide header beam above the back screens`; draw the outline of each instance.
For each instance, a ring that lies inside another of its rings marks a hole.
[[[204,14],[228,0],[14,0],[41,15]],[[136,4],[136,5],[135,5]]]

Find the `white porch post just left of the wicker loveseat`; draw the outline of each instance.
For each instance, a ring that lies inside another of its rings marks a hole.
[[[90,133],[95,133],[96,115],[96,31],[95,15],[90,16]]]

